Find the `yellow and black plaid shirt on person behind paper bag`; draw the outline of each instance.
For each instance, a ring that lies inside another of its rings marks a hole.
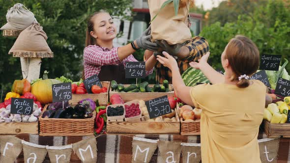
[[[183,59],[176,59],[180,74],[182,74],[186,69],[190,67],[190,62],[197,61],[206,52],[209,51],[208,42],[205,38],[200,36],[193,37],[185,46],[189,49],[189,55]],[[157,62],[155,65],[155,69],[156,83],[163,83],[164,80],[168,80],[170,83],[172,83],[172,72],[168,67],[165,67],[161,63]]]

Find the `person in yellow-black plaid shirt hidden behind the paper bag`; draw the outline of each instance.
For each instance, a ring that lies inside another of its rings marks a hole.
[[[185,20],[185,25],[189,28],[191,26],[190,16],[187,16]],[[209,51],[209,45],[205,38],[200,36],[193,37],[190,41],[186,41],[183,44],[169,45],[165,40],[156,40],[157,44],[161,46],[163,51],[174,55],[177,61],[179,72],[182,74],[187,70],[191,61],[197,61],[206,52]],[[154,52],[154,55],[160,54],[159,52]],[[144,61],[150,58],[152,53],[144,54]],[[164,80],[168,80],[172,83],[172,72],[168,67],[163,66],[159,62],[156,62],[156,83],[163,83]]]

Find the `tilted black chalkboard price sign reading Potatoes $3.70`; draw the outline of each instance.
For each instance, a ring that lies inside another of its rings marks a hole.
[[[147,107],[150,119],[172,112],[167,96],[146,101],[145,105]]]

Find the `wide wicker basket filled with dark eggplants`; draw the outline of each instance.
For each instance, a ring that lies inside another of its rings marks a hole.
[[[44,107],[46,110],[48,105]],[[40,136],[92,136],[94,135],[94,119],[93,116],[86,119],[63,119],[63,118],[41,118],[39,117]]]

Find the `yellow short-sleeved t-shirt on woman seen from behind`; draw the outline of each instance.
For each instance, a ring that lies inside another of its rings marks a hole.
[[[247,88],[203,84],[191,89],[194,105],[203,109],[203,163],[261,163],[258,145],[266,87],[253,81]]]

